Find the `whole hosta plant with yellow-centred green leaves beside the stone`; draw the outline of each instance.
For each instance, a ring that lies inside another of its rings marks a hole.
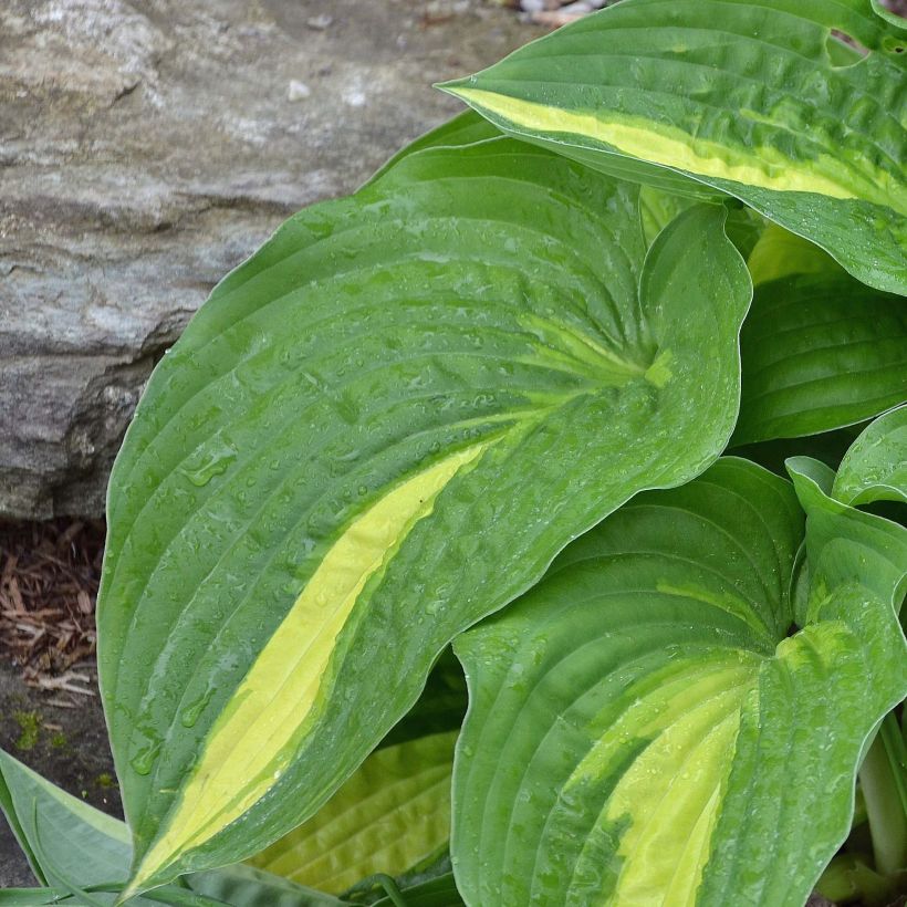
[[[906,39],[623,0],[228,275],[111,479],[126,823],[3,757],[0,903],[894,900]]]

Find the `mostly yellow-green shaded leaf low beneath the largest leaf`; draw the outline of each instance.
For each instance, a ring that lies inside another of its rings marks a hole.
[[[312,819],[250,863],[341,894],[430,857],[450,837],[456,739],[448,731],[376,750]]]

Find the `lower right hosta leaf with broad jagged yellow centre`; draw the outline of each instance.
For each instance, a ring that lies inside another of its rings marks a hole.
[[[856,544],[864,518],[886,522],[836,505],[826,544]],[[816,576],[811,619],[791,627],[802,538],[791,484],[726,458],[625,504],[457,640],[467,904],[804,903],[907,653],[894,590],[858,572]]]

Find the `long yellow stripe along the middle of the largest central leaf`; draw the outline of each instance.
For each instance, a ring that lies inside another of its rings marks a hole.
[[[140,890],[180,853],[239,819],[278,783],[366,582],[415,523],[431,513],[457,471],[492,442],[460,450],[407,479],[337,539],[211,728],[188,784],[126,894]]]

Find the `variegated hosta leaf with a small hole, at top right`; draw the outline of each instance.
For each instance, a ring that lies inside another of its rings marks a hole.
[[[906,48],[869,0],[624,0],[442,87],[625,178],[736,196],[907,293]]]

